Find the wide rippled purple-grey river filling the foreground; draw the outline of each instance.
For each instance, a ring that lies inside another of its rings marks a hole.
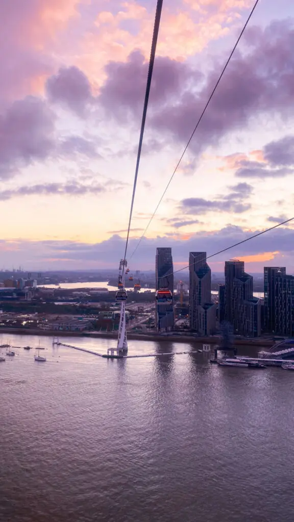
[[[1,522],[292,522],[294,372],[168,341],[130,341],[170,354],[125,360],[41,346],[46,363],[0,363]]]

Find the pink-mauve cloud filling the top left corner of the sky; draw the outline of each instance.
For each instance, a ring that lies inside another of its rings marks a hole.
[[[0,3],[0,109],[6,101],[42,92],[45,79],[54,71],[50,50],[78,16],[78,4],[77,0]]]

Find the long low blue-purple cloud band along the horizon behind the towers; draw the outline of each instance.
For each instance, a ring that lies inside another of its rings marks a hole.
[[[256,231],[256,233],[258,230]],[[228,252],[213,257],[209,263],[222,263],[232,257],[245,255],[261,254],[264,252],[279,252],[278,257],[274,260],[264,262],[265,265],[273,265],[275,263],[283,264],[289,267],[291,271],[294,269],[294,242],[293,229],[290,227],[280,227],[256,239],[248,241],[238,247],[232,248]],[[225,227],[217,232],[201,231],[193,234],[189,240],[174,239],[164,235],[157,238],[144,238],[142,245],[138,248],[132,266],[140,269],[153,269],[155,266],[155,252],[157,246],[171,246],[173,258],[175,262],[183,262],[188,264],[188,256],[190,251],[206,251],[211,255],[222,248],[228,247],[234,243],[242,241],[252,235],[252,232],[245,232],[240,227],[233,225]],[[138,239],[130,239],[130,252],[134,250]],[[2,263],[12,265],[21,259],[21,264],[33,266],[41,269],[42,266],[48,269],[48,263],[51,259],[57,259],[52,267],[62,268],[66,263],[66,268],[100,267],[116,268],[116,259],[119,259],[123,250],[125,239],[119,235],[113,235],[110,239],[96,244],[80,243],[74,241],[14,241],[13,245],[9,242],[0,241]],[[12,251],[9,252],[9,246]],[[15,250],[17,248],[17,250]],[[281,257],[284,255],[285,257]],[[67,259],[70,259],[68,262]],[[249,265],[250,266],[250,265]],[[263,264],[261,264],[262,269]],[[219,270],[222,269],[220,265]],[[178,274],[180,277],[180,273]]]

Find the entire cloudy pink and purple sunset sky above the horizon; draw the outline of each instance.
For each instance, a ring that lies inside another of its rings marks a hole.
[[[164,0],[128,256],[253,0]],[[0,269],[115,268],[156,0],[0,0]],[[259,0],[131,269],[175,268],[294,216],[294,3]],[[294,273],[294,221],[209,260]]]

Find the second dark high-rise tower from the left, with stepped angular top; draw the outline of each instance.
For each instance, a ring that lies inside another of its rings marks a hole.
[[[216,331],[216,305],[211,302],[211,270],[206,252],[189,254],[190,328],[201,335]]]

